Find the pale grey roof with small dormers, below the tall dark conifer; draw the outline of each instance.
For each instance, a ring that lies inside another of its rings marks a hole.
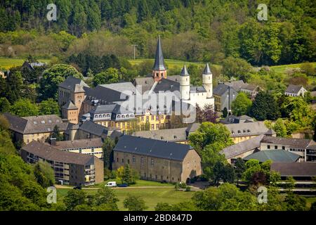
[[[266,134],[269,130],[263,121],[224,125],[231,132],[232,137]]]

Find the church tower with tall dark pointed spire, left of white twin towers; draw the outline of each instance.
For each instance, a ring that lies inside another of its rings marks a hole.
[[[164,55],[162,54],[162,41],[158,37],[156,56],[154,58],[154,67],[152,68],[152,77],[155,82],[166,78],[166,66],[164,65]]]

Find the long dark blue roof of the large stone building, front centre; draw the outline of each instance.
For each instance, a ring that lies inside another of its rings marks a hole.
[[[180,143],[124,135],[119,139],[114,151],[183,161],[191,149],[191,146]]]

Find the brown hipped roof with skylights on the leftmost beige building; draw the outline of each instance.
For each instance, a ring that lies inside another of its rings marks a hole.
[[[66,131],[68,122],[62,122],[57,115],[39,115],[32,117],[17,117],[10,113],[4,114],[10,123],[10,129],[20,134],[37,134],[52,132],[55,125],[60,131]]]

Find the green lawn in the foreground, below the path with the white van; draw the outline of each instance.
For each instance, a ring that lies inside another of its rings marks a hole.
[[[62,201],[62,199],[67,195],[67,191],[70,189],[58,189],[57,199]],[[88,194],[96,194],[97,190],[84,190]],[[117,203],[119,210],[126,210],[123,207],[124,199],[130,195],[138,195],[143,200],[145,200],[145,205],[148,207],[147,210],[154,210],[157,203],[181,203],[186,200],[190,200],[194,192],[176,191],[175,188],[121,188],[114,189],[119,202]]]

